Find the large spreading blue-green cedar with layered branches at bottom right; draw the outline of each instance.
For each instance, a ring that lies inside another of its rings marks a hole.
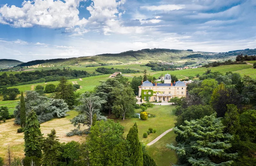
[[[167,144],[175,150],[181,164],[230,166],[237,154],[229,154],[232,135],[224,134],[225,126],[216,113],[202,119],[185,121],[185,126],[173,128],[180,137],[177,147]]]

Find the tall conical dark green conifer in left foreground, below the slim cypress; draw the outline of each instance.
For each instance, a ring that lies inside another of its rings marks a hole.
[[[41,157],[41,143],[43,134],[40,130],[40,124],[37,120],[37,115],[35,111],[30,111],[26,118],[26,126],[24,131],[25,140],[25,156],[36,156]]]

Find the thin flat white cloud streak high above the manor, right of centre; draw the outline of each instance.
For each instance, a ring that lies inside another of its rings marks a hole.
[[[146,9],[148,11],[172,11],[179,10],[185,8],[185,5],[175,5],[175,4],[167,4],[167,5],[159,5],[159,6],[140,6],[140,9]]]

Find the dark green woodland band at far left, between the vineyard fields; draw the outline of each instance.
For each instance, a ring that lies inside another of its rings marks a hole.
[[[52,70],[42,70],[35,72],[21,72],[16,74],[6,73],[0,75],[0,88],[11,87],[26,84],[35,84],[40,82],[50,82],[58,81],[61,77],[66,77],[67,79],[83,78],[96,76],[98,74],[90,74],[86,71],[81,70],[71,70],[71,69],[52,69]]]

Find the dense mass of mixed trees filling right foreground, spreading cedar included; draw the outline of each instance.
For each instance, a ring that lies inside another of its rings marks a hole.
[[[208,70],[188,84],[178,104],[175,150],[182,165],[255,165],[256,80]]]

